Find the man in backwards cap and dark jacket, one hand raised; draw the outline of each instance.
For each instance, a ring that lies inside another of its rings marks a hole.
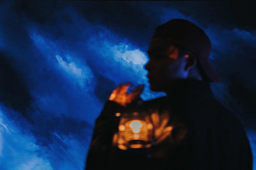
[[[252,169],[243,127],[211,93],[209,83],[219,78],[208,63],[205,32],[170,20],[156,28],[147,53],[150,88],[167,96],[142,102],[143,85],[131,93],[130,83],[118,86],[96,121],[86,169]],[[116,147],[116,113],[132,110],[150,115],[153,141],[146,149]]]

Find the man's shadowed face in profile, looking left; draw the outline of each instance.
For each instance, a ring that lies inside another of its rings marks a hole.
[[[168,91],[173,80],[184,77],[186,63],[178,57],[178,48],[170,46],[162,38],[153,38],[147,51],[148,80],[152,91]]]

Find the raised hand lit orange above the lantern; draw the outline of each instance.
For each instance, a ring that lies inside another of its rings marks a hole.
[[[114,101],[122,106],[126,107],[126,104],[130,104],[131,102],[138,100],[140,98],[140,94],[144,89],[144,85],[138,85],[131,93],[128,93],[127,90],[132,86],[132,83],[121,84],[109,97],[109,100]]]

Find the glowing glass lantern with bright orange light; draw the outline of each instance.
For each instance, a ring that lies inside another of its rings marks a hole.
[[[116,116],[121,116],[114,139],[119,149],[151,147],[153,125],[146,113],[116,113]]]

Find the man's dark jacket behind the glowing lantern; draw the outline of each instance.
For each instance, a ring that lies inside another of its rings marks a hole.
[[[150,115],[150,148],[122,150],[114,144],[120,124],[115,113],[132,110]],[[140,106],[107,101],[95,122],[86,169],[244,170],[252,169],[252,153],[239,120],[214,99],[210,84],[186,80]]]

